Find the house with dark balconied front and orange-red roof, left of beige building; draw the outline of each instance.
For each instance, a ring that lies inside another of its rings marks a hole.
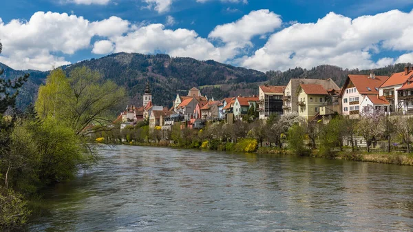
[[[260,85],[258,111],[260,119],[266,119],[271,114],[282,114],[282,98],[285,86]]]

